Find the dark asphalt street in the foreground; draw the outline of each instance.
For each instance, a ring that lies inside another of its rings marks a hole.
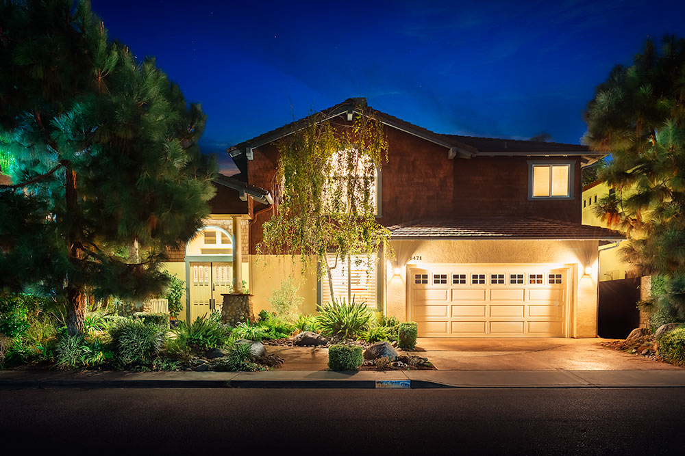
[[[682,455],[684,412],[685,388],[0,390],[0,442],[21,454]]]

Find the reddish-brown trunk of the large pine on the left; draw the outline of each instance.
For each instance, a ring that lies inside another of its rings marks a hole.
[[[78,196],[76,192],[76,172],[71,167],[71,164],[66,166],[66,182],[65,182],[65,196],[66,196],[66,211],[69,214],[69,222],[71,226],[67,234],[67,243],[69,245],[69,263],[74,269],[80,269],[79,260],[82,258],[82,252],[79,250],[79,226],[80,219],[78,213]],[[84,286],[73,280],[73,277],[68,277],[66,282],[66,330],[69,336],[77,336],[83,334],[84,319],[86,318],[86,294],[84,293]]]

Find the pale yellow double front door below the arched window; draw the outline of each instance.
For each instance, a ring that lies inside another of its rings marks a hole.
[[[231,293],[232,281],[232,263],[190,263],[190,321],[221,312],[221,294]]]

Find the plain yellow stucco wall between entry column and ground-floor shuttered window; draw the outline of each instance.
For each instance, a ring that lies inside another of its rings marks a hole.
[[[316,271],[306,271],[303,275],[301,256],[250,255],[249,265],[250,293],[253,295],[255,314],[262,309],[273,311],[269,298],[281,286],[281,281],[288,277],[292,277],[295,286],[299,286],[298,294],[304,298],[299,312],[313,314],[316,311]]]

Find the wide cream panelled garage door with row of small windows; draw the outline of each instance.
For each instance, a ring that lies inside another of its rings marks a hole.
[[[430,265],[408,270],[421,337],[563,337],[569,269]]]

